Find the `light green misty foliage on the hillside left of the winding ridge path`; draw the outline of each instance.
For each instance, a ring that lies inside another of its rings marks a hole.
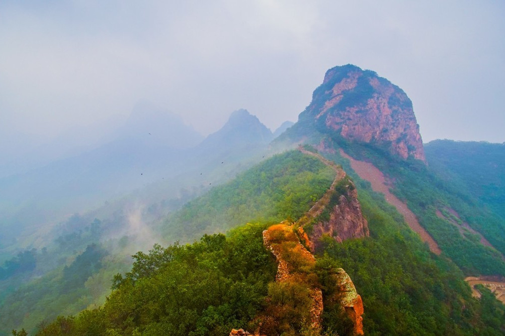
[[[247,221],[295,220],[331,185],[335,173],[318,159],[289,151],[186,204],[161,226],[169,241],[192,241]]]

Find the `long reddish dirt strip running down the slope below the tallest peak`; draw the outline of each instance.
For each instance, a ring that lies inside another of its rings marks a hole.
[[[430,247],[431,252],[435,254],[440,254],[442,251],[438,247],[435,240],[430,236],[430,234],[419,224],[416,215],[409,209],[407,204],[403,203],[398,199],[398,197],[391,194],[389,187],[386,183],[386,179],[381,171],[379,171],[372,163],[356,160],[349,155],[347,155],[342,149],[340,149],[340,155],[347,158],[350,161],[352,169],[358,174],[362,179],[367,180],[372,184],[372,189],[375,192],[380,192],[384,194],[386,201],[393,205],[396,210],[403,215],[403,218],[409,225],[409,227],[416,232],[423,242],[427,242]]]

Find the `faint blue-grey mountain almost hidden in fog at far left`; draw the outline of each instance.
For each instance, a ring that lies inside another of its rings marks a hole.
[[[182,148],[194,146],[201,136],[165,111],[137,105],[112,138],[84,153],[0,179],[0,244],[24,247],[32,243],[23,242],[27,235],[69,213],[180,173]]]

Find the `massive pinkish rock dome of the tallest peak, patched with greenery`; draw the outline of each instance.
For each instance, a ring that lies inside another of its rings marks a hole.
[[[403,159],[425,161],[419,125],[407,94],[373,71],[346,65],[326,72],[299,120],[322,133],[371,143]]]

